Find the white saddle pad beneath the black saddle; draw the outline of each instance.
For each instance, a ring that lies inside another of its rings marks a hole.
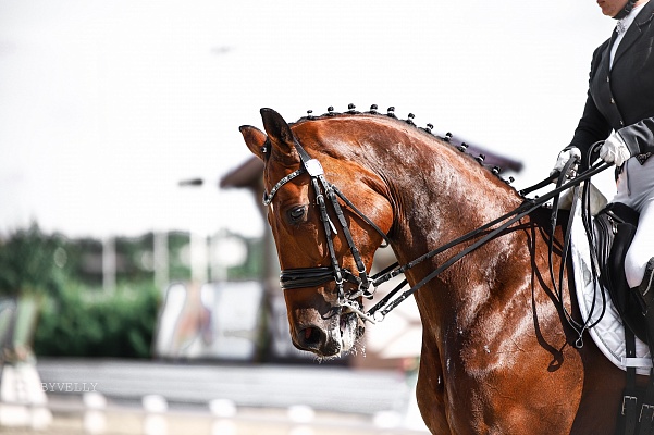
[[[579,201],[579,200],[577,200]],[[577,286],[577,299],[583,319],[594,323],[602,314],[602,288],[600,284],[593,284],[591,274],[590,247],[585,235],[585,228],[581,220],[581,207],[575,208],[575,220],[571,229],[570,251],[572,253],[572,265],[575,269],[575,284]],[[625,326],[618,314],[608,291],[606,295],[606,311],[604,316],[589,333],[600,350],[616,366],[626,370],[627,366],[636,366],[639,374],[650,374],[652,359],[647,345],[636,338],[636,358],[626,358]],[[593,307],[593,300],[595,306]],[[591,312],[592,311],[592,312]]]

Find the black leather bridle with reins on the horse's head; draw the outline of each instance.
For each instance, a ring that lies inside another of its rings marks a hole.
[[[427,283],[429,283],[430,281],[435,278],[439,274],[441,274],[443,271],[445,271],[452,264],[456,263],[458,260],[460,260],[468,253],[472,252],[480,246],[482,246],[482,245],[486,244],[488,241],[492,240],[493,238],[502,235],[509,226],[511,226],[516,222],[520,221],[522,217],[530,214],[534,210],[543,207],[551,199],[554,199],[555,203],[556,203],[556,201],[558,200],[557,198],[560,192],[563,192],[571,187],[578,186],[579,184],[581,184],[584,181],[590,179],[592,176],[596,175],[597,173],[606,170],[607,167],[610,167],[609,164],[601,162],[601,163],[597,163],[597,164],[591,166],[588,171],[583,172],[582,174],[579,174],[573,179],[565,183],[564,182],[564,179],[566,178],[565,175],[569,172],[571,164],[576,163],[573,161],[569,161],[568,164],[564,167],[563,171],[560,171],[559,174],[551,175],[550,177],[538,183],[536,185],[520,190],[519,194],[522,197],[525,197],[526,195],[528,195],[534,190],[538,190],[542,187],[545,187],[545,186],[550,185],[551,183],[553,183],[554,181],[558,179],[557,184],[556,184],[556,188],[553,189],[552,191],[550,191],[545,195],[542,195],[540,197],[536,197],[535,199],[526,198],[525,201],[519,207],[509,211],[508,213],[506,213],[506,214],[504,214],[504,215],[502,215],[502,216],[499,216],[499,217],[497,217],[497,219],[495,219],[469,233],[461,235],[460,237],[415,259],[414,261],[410,261],[404,265],[399,265],[399,263],[396,262],[396,263],[390,265],[388,268],[384,269],[383,271],[379,272],[378,274],[375,274],[373,276],[369,276],[366,271],[366,265],[363,264],[363,261],[361,260],[359,250],[355,246],[354,239],[351,237],[351,233],[347,225],[347,221],[345,220],[345,215],[343,213],[343,209],[338,202],[338,198],[341,198],[349,209],[351,209],[359,217],[361,217],[368,225],[370,225],[374,231],[377,231],[381,235],[381,237],[384,239],[384,245],[382,245],[382,247],[386,247],[390,245],[391,241],[388,239],[388,236],[374,222],[372,222],[359,209],[357,209],[357,207],[349,199],[347,199],[347,197],[341,190],[338,190],[338,188],[336,186],[334,186],[333,184],[329,183],[325,179],[324,171],[323,171],[320,162],[318,160],[311,158],[297,140],[294,140],[294,146],[295,146],[297,153],[300,157],[300,161],[301,161],[300,167],[297,171],[292,172],[291,174],[281,178],[270,189],[270,192],[264,191],[262,202],[267,207],[270,206],[270,203],[272,202],[272,199],[274,198],[275,194],[279,191],[280,188],[282,188],[285,184],[287,184],[292,179],[296,178],[297,176],[299,176],[301,174],[308,174],[311,177],[311,185],[312,185],[313,191],[316,194],[316,204],[318,206],[318,208],[320,210],[320,217],[321,217],[321,221],[323,222],[323,227],[324,227],[325,237],[326,237],[326,241],[328,241],[331,264],[329,266],[298,268],[298,269],[282,270],[281,274],[280,274],[281,287],[284,290],[292,290],[292,289],[304,288],[304,287],[316,287],[316,286],[319,286],[319,285],[322,285],[325,283],[335,282],[336,289],[338,293],[338,306],[341,308],[349,309],[351,312],[355,312],[357,315],[359,315],[359,318],[361,318],[362,320],[369,321],[371,323],[381,322],[386,316],[386,314],[388,312],[391,312],[393,309],[395,309],[400,302],[406,300],[409,296],[411,296],[414,293],[416,293],[419,288],[424,286]],[[266,146],[264,146],[263,152],[264,153],[268,152]],[[325,200],[325,198],[326,198],[326,200]],[[335,249],[334,249],[334,244],[332,241],[333,235],[338,234],[338,232],[336,229],[336,226],[334,225],[334,223],[332,222],[332,220],[329,216],[328,203],[330,203],[332,206],[333,212],[338,219],[338,224],[343,231],[343,235],[347,240],[348,248],[349,248],[353,259],[357,265],[356,273],[353,273],[348,269],[342,268],[340,265],[340,262],[336,257]],[[553,216],[555,216],[555,213],[553,213]],[[553,221],[554,220],[555,220],[555,217],[553,217]],[[552,231],[553,229],[554,229],[554,222],[553,222]],[[472,244],[470,244],[469,246],[467,246],[466,248],[464,248],[460,252],[448,258],[446,261],[444,261],[442,264],[440,264],[436,269],[434,269],[431,273],[429,273],[425,277],[423,277],[416,285],[411,286],[409,289],[400,293],[402,289],[408,285],[408,282],[405,278],[405,279],[403,279],[403,282],[399,285],[397,285],[394,289],[392,289],[384,298],[382,298],[377,304],[374,304],[368,311],[365,311],[361,303],[357,300],[359,297],[372,299],[374,291],[370,290],[371,287],[377,288],[379,285],[385,283],[386,281],[390,281],[400,274],[405,274],[408,270],[415,268],[416,265],[420,264],[421,262],[423,262],[428,259],[431,259],[431,258],[435,257],[436,254],[442,253],[455,246],[461,245],[461,244],[472,240],[472,239],[476,239],[476,240]],[[564,264],[562,264],[562,272],[560,272],[562,276],[563,276],[563,266],[564,266]],[[551,268],[552,268],[552,265],[551,265]],[[551,273],[552,273],[552,271],[551,271]],[[356,286],[356,290],[346,295],[345,288],[344,288],[345,282],[354,284]],[[582,326],[583,326],[582,330],[585,330],[587,327],[589,327],[585,324],[583,324]]]

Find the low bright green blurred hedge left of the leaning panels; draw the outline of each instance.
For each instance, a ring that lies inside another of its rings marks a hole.
[[[159,293],[153,285],[111,295],[69,287],[44,303],[34,338],[37,356],[149,358]]]

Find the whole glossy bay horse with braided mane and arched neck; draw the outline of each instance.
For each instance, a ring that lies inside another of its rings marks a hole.
[[[291,124],[274,110],[260,113],[264,132],[240,132],[264,163],[292,340],[320,358],[357,348],[369,320],[361,283],[384,239],[407,264],[525,201],[431,128],[391,112],[330,111]],[[330,195],[320,183],[342,194],[332,195],[336,211],[321,206]],[[416,394],[433,434],[615,432],[625,373],[592,339],[575,346],[579,336],[565,319],[565,310],[580,315],[572,271],[556,291],[548,268],[560,266],[562,253],[548,259],[550,213],[525,215],[415,293]],[[560,246],[560,225],[553,237]],[[409,284],[470,244],[408,269]]]

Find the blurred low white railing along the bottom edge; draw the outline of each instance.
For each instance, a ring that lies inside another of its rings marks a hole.
[[[0,427],[32,428],[34,434],[67,435],[322,435],[384,434],[418,435],[422,430],[406,426],[404,417],[394,411],[375,415],[316,411],[297,405],[286,409],[238,408],[233,401],[215,399],[206,407],[171,406],[164,397],[148,395],[140,401],[121,403],[97,391],[77,396],[52,396],[40,405],[0,402]]]

